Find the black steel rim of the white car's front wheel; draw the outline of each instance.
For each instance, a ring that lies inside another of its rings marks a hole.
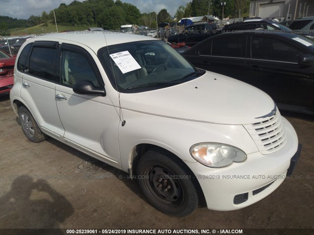
[[[183,201],[183,189],[177,176],[162,165],[147,168],[149,176],[147,186],[155,198],[172,206],[178,206]]]

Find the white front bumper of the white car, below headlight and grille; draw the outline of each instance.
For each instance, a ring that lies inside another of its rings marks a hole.
[[[255,152],[243,163],[224,168],[209,168],[186,162],[203,190],[207,206],[216,211],[247,207],[269,195],[286,179],[291,158],[298,159],[301,145],[291,124],[283,118],[287,144],[272,154]],[[290,174],[291,172],[288,172]]]

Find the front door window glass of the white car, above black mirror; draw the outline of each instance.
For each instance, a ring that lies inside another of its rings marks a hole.
[[[73,86],[78,81],[88,80],[99,87],[95,75],[86,58],[77,52],[63,50],[61,56],[61,84]]]

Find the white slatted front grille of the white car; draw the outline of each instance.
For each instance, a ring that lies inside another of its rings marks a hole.
[[[284,123],[279,111],[270,118],[263,118],[260,122],[243,126],[262,154],[276,152],[287,143]]]

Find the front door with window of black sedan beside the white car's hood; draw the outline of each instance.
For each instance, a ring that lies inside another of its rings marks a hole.
[[[275,38],[250,37],[251,56],[246,60],[253,86],[269,94],[276,103],[313,109],[314,67],[298,65],[301,48]]]

